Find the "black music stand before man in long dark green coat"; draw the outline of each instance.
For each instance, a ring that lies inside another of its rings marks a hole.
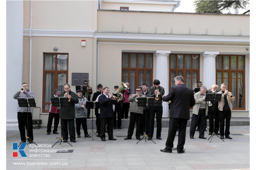
[[[57,107],[60,107],[60,106],[69,106],[69,104],[68,104],[68,98],[67,97],[51,97],[51,102],[52,102],[52,106],[57,106]],[[62,142],[62,139],[63,139],[63,137],[62,137],[62,133],[61,133],[61,122],[60,122],[60,139],[56,142],[56,143],[58,143],[59,141],[60,141],[60,145],[61,145],[61,142]],[[54,143],[54,145],[56,144],[56,143]],[[69,144],[69,145],[71,145],[68,141],[67,141],[67,143]],[[53,146],[54,146],[53,145]],[[53,147],[52,146],[52,147]],[[72,145],[71,145],[72,146]]]

